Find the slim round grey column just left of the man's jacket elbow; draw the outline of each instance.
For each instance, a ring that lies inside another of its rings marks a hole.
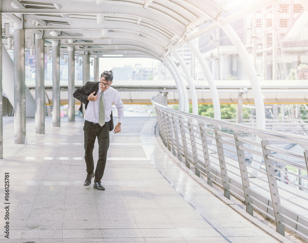
[[[68,121],[75,121],[75,51],[74,47],[68,49]]]

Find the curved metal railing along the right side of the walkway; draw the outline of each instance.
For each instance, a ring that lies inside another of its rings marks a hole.
[[[178,111],[152,98],[165,146],[197,176],[308,240],[308,139]]]

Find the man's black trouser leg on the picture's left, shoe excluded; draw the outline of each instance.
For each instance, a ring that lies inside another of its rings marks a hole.
[[[84,160],[87,165],[87,174],[94,172],[93,149],[96,138],[95,124],[91,124],[87,120],[84,121]]]

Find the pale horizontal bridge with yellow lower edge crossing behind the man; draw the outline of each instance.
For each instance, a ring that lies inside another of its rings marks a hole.
[[[254,104],[254,96],[249,80],[215,80],[221,104],[238,103],[239,95],[244,104]],[[35,97],[35,80],[27,80]],[[68,82],[60,82],[60,98],[62,104],[68,103]],[[82,80],[75,80],[75,88],[83,85]],[[199,104],[212,104],[213,97],[207,80],[194,80]],[[308,103],[307,80],[260,80],[265,104],[304,104]],[[174,80],[114,80],[112,87],[119,91],[125,104],[151,104],[151,97],[165,93],[169,104],[178,104],[179,95]],[[186,86],[191,101],[189,87]],[[168,93],[167,93],[168,92]],[[52,81],[45,80],[45,102],[52,103]],[[11,99],[14,97],[12,96]],[[75,103],[80,101],[75,100]]]

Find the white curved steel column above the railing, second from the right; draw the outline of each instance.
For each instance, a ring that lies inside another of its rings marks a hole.
[[[205,59],[203,58],[200,50],[196,47],[196,45],[192,42],[189,41],[186,43],[187,46],[190,48],[190,50],[193,52],[193,54],[196,56],[198,59],[198,62],[200,63],[203,73],[208,80],[209,83],[209,88],[211,91],[212,95],[212,101],[213,101],[213,108],[214,108],[214,118],[215,119],[221,119],[221,111],[220,111],[220,102],[219,102],[219,97],[218,97],[218,91],[217,87],[214,83],[214,78],[211,70],[209,69],[209,65],[205,62]]]

